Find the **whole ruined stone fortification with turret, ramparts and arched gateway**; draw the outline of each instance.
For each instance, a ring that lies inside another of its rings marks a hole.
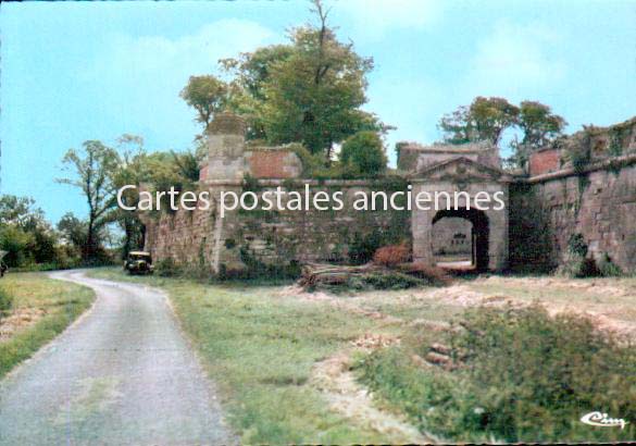
[[[142,215],[146,249],[155,260],[221,272],[245,267],[246,259],[266,264],[341,261],[356,240],[371,234],[409,240],[413,260],[436,263],[440,253],[467,258],[477,271],[526,268],[547,271],[566,257],[572,234],[582,234],[588,256],[608,256],[624,272],[636,272],[636,119],[611,127],[587,127],[531,156],[527,174],[501,169],[498,149],[488,144],[462,146],[398,145],[395,176],[382,179],[302,178],[302,162],[288,146],[246,144],[245,122],[221,113],[209,127],[209,154],[198,187],[219,202],[222,190],[240,193],[244,178],[254,191],[282,186],[313,193],[396,187],[396,178],[417,191],[501,193],[504,210],[360,212],[233,211],[224,219],[217,206],[207,211]],[[582,169],[572,148],[589,152]],[[461,244],[456,240],[463,240]]]

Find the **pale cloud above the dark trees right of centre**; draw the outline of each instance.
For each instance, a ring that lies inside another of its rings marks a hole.
[[[462,91],[465,96],[527,99],[559,86],[566,74],[561,36],[545,26],[500,22],[478,41]]]

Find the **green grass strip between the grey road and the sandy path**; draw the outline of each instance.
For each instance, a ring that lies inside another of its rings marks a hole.
[[[92,276],[164,288],[185,332],[221,387],[241,443],[387,443],[331,411],[308,384],[315,362],[348,347],[373,323],[323,302],[275,295],[280,288],[127,276]]]

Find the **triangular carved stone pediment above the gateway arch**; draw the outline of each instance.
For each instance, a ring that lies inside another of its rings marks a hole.
[[[512,177],[499,169],[461,157],[428,165],[412,174],[410,179],[450,183],[509,183]]]

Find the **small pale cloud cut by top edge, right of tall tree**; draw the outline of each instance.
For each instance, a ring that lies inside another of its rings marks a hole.
[[[395,28],[423,28],[440,18],[439,0],[340,0],[334,14],[345,13],[353,22],[356,35],[379,38]]]

